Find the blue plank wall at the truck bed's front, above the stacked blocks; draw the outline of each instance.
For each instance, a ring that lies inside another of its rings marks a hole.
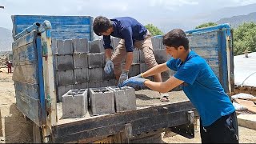
[[[87,38],[94,40],[92,29],[93,18],[90,16],[46,16],[46,15],[13,15],[13,36],[31,26],[34,22],[51,23],[51,36],[57,39]]]

